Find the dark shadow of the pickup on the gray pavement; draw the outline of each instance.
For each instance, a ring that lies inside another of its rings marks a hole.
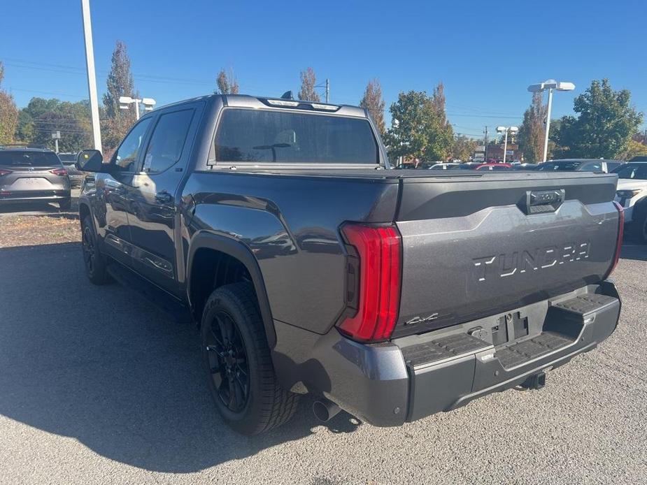
[[[270,433],[230,430],[211,402],[197,328],[118,284],[92,286],[78,243],[0,249],[0,268],[0,414],[161,472],[204,470],[326,432],[308,398]],[[357,426],[344,412],[326,424],[334,433]]]

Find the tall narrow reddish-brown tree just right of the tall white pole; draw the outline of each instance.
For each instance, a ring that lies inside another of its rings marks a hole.
[[[103,124],[103,143],[109,151],[116,147],[136,121],[135,110],[120,110],[120,96],[138,98],[135,83],[130,71],[130,59],[126,44],[117,41],[113,51],[110,73],[108,73],[107,92],[104,94],[106,120]]]

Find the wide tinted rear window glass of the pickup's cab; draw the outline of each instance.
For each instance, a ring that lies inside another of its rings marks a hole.
[[[367,120],[307,113],[229,109],[215,135],[217,161],[377,164]]]

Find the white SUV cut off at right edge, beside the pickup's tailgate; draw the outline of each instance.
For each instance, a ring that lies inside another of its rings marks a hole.
[[[647,243],[647,161],[632,161],[616,168],[616,201],[625,208],[625,223]]]

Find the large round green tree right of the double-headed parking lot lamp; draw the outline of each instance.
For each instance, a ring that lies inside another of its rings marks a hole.
[[[613,159],[623,154],[643,119],[630,101],[628,89],[613,91],[608,79],[592,81],[574,101],[578,117],[562,117],[554,137],[558,156]]]

